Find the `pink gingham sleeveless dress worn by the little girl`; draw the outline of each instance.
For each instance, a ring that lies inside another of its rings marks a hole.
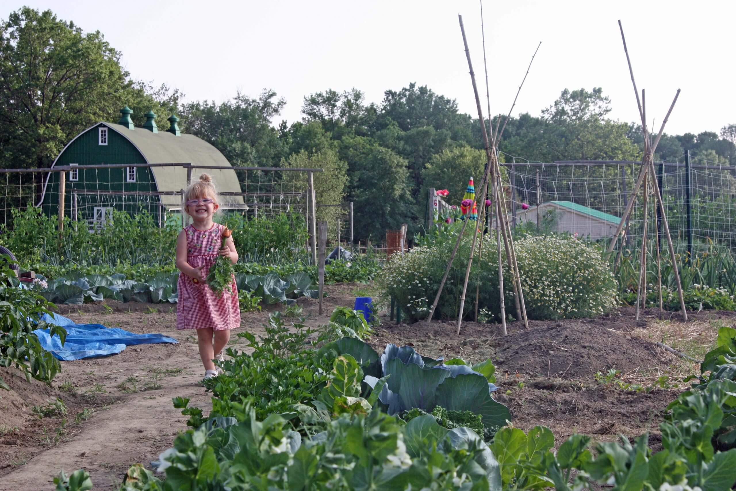
[[[187,262],[194,268],[205,266],[202,268],[205,277],[217,258],[224,228],[224,225],[216,223],[210,230],[197,230],[193,225],[184,229]],[[212,328],[213,331],[223,331],[237,328],[240,325],[240,307],[235,277],[232,286],[233,293],[225,288],[222,297],[217,297],[206,283],[195,283],[194,278],[180,273],[177,330]]]

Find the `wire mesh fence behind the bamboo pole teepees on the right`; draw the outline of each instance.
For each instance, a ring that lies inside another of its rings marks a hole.
[[[515,225],[532,222],[591,239],[611,237],[631,199],[640,166],[639,162],[615,160],[541,163],[506,155],[509,219]],[[687,243],[691,233],[696,248],[708,241],[736,248],[735,167],[683,155],[655,163],[655,170],[674,241]],[[651,194],[648,208],[651,234],[655,230]],[[640,191],[626,224],[629,244],[642,236],[643,215]],[[661,219],[657,222],[661,234]]]

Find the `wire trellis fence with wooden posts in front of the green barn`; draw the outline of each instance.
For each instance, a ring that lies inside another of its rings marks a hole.
[[[213,177],[224,213],[248,219],[283,213],[294,223],[309,225],[314,215],[314,192],[309,184],[314,172],[322,171],[188,163],[0,169],[0,186],[4,187],[0,225],[12,227],[18,211],[36,207],[91,229],[103,227],[113,210],[149,213],[159,227],[182,227],[188,223],[188,216],[182,213],[183,193],[202,173]]]

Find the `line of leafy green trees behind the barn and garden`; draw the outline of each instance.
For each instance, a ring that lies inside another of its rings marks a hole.
[[[97,121],[117,121],[124,105],[138,126],[148,110],[160,128],[176,113],[185,133],[216,146],[233,166],[325,169],[316,176],[318,201],[353,201],[355,239],[361,240],[381,240],[403,223],[410,232],[421,230],[426,190],[447,188],[448,199],[459,201],[467,178],[480,176],[486,160],[480,121],[424,85],[387,90],[378,103],[367,103],[357,88],[312,93],[302,101],[302,121],[274,124],[286,105],[275,91],[185,102],[176,88],[133,80],[99,31],[82,32],[50,10],[29,7],[0,22],[2,168],[51,166],[71,138]],[[565,89],[539,116],[512,117],[500,149],[543,162],[640,159],[640,127],[610,119],[610,110],[602,88]],[[676,159],[689,150],[736,165],[735,143],[736,124],[719,133],[664,135],[656,158]]]

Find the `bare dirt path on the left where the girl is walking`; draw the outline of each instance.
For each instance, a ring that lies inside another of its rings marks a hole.
[[[350,292],[355,287],[328,286],[330,297],[325,298],[322,317],[316,302],[300,300],[302,315],[310,316],[306,323],[326,323],[335,305],[354,300]],[[17,370],[0,373],[13,386],[9,394],[0,393],[0,491],[51,490],[60,470],[71,473],[79,468],[91,474],[96,491],[117,490],[131,464],[141,462],[150,468],[150,462],[187,429],[187,418],[174,409],[172,398],[190,398],[190,406],[205,414],[210,411],[210,395],[197,384],[203,369],[196,333],[176,331],[176,313],[169,305],[131,303],[116,308],[131,311],[108,313],[102,305],[81,305],[79,310],[61,308],[61,313],[76,322],[163,333],[179,344],[130,346],[115,356],[63,361],[54,389],[28,384],[14,375]],[[243,314],[229,346],[244,350],[247,342],[236,333],[262,334],[267,314]],[[66,415],[39,419],[32,414],[32,406],[54,397],[63,398]],[[78,414],[91,417],[83,420]]]

